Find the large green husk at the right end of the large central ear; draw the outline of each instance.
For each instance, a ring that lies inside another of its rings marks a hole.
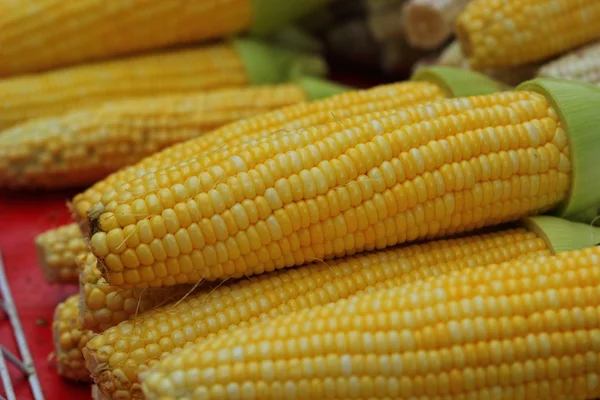
[[[553,214],[572,218],[600,204],[600,88],[552,78],[536,78],[517,90],[540,93],[558,112],[571,157],[571,189]]]

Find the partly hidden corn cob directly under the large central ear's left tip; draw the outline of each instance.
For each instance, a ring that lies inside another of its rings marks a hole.
[[[140,313],[179,300],[190,290],[185,285],[123,290],[102,278],[93,254],[82,256],[80,263],[80,320],[83,328],[93,332],[102,332]]]

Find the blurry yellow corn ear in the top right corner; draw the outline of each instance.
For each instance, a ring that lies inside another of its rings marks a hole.
[[[473,68],[543,61],[600,39],[599,0],[472,0],[456,34]]]

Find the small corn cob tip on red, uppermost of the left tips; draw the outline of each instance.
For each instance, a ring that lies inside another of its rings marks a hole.
[[[88,252],[76,223],[46,231],[35,238],[38,264],[48,283],[79,280],[77,257]]]

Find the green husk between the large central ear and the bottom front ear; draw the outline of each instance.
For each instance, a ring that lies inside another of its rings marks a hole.
[[[581,250],[600,243],[600,228],[589,224],[550,215],[525,218],[521,223],[544,239],[554,254]]]

